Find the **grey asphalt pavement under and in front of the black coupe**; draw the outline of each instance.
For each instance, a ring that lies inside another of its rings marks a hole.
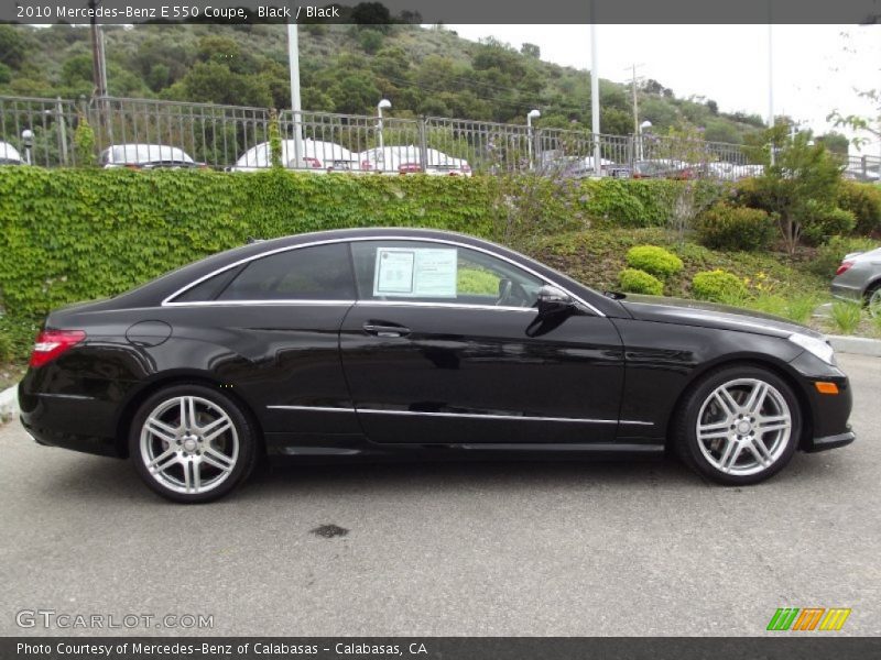
[[[777,607],[850,607],[838,635],[879,635],[881,359],[839,363],[857,442],[743,488],[672,460],[360,464],[180,506],[10,422],[0,634],[760,635]],[[213,628],[17,624],[37,609]]]

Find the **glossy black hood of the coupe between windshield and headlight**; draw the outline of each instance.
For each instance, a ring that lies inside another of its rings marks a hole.
[[[823,337],[819,332],[781,317],[714,302],[628,294],[621,305],[634,319],[641,321],[719,328],[772,337],[788,337],[793,332]]]

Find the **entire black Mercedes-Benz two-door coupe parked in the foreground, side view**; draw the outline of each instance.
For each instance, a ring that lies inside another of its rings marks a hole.
[[[43,444],[129,457],[178,502],[261,454],[660,454],[750,484],[848,444],[823,337],[600,294],[499,245],[412,229],[252,243],[48,315],[19,387]]]

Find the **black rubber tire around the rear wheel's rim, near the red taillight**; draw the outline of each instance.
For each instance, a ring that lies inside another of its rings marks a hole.
[[[141,430],[148,416],[161,403],[178,396],[195,396],[207,399],[219,406],[229,416],[232,425],[236,427],[236,432],[238,433],[239,455],[236,466],[232,469],[232,472],[224,481],[224,483],[206,493],[177,493],[176,491],[172,491],[171,488],[163,486],[146,469],[146,465],[141,457]],[[206,387],[205,385],[196,384],[172,385],[149,396],[138,408],[129,430],[129,457],[132,465],[134,466],[134,471],[152,491],[162,495],[166,499],[183,504],[213,502],[232,491],[239,483],[247,479],[253,469],[257,454],[255,444],[257,442],[254,438],[253,426],[248,419],[247,415],[242,411],[241,407],[228,396],[225,396],[216,389]]]

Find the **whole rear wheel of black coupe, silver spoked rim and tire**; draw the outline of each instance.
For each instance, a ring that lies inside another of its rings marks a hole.
[[[181,399],[193,402],[196,419],[193,425],[186,424],[192,417],[184,411],[186,404],[181,406],[174,403]],[[164,426],[153,427],[155,430],[146,431],[144,424],[148,418],[163,407],[167,409],[154,419]],[[217,438],[208,438],[215,430],[202,433],[200,429],[210,428],[211,422],[216,422],[218,429],[222,427],[227,430],[221,429]],[[175,424],[180,424],[181,428],[176,428]],[[181,429],[185,426],[194,428],[186,429],[184,435]],[[215,442],[221,446],[215,446]],[[188,451],[189,446],[193,446],[193,451]],[[160,453],[170,454],[164,461],[168,468],[155,475],[148,464],[151,458],[154,461],[159,459],[156,454]],[[156,392],[141,404],[129,430],[129,455],[138,475],[155,493],[183,504],[213,502],[227,495],[248,479],[259,454],[257,429],[249,416],[230,397],[205,385],[181,384]],[[196,486],[206,476],[208,479],[204,486]],[[180,483],[175,483],[175,480]]]

